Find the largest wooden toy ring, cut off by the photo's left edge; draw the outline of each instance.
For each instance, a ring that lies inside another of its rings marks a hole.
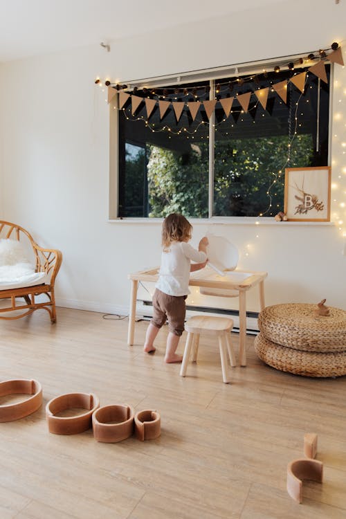
[[[42,386],[37,380],[20,379],[0,382],[0,397],[21,393],[33,396],[22,402],[0,406],[0,422],[27,417],[42,406]]]

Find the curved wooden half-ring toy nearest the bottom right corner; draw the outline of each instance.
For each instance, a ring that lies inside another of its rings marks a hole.
[[[322,483],[323,464],[317,459],[294,459],[287,466],[287,492],[298,503],[302,502],[302,480]]]

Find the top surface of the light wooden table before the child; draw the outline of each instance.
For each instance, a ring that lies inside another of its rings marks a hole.
[[[145,271],[139,271],[129,274],[130,280],[151,281],[158,280],[158,271],[160,267],[148,268]],[[225,275],[219,275],[212,268],[206,266],[200,271],[194,271],[190,275],[190,286],[206,286],[212,289],[230,289],[245,291],[251,289],[262,282],[268,273],[253,271],[225,271]]]

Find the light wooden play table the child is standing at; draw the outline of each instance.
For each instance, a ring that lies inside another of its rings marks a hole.
[[[134,326],[136,318],[136,300],[138,281],[156,282],[158,280],[159,267],[151,268],[147,271],[140,271],[129,274],[131,280],[131,302],[129,309],[129,330],[127,336],[127,344],[134,344]],[[245,271],[234,271],[237,273],[245,273]],[[252,272],[246,279],[232,280],[227,275],[221,276],[210,268],[203,268],[190,275],[190,286],[203,286],[209,289],[233,290],[238,292],[239,296],[239,361],[240,365],[246,366],[246,291],[258,285],[260,289],[260,309],[264,309],[264,280],[267,276],[266,272]],[[230,276],[232,273],[230,273]],[[215,295],[220,295],[215,293]]]

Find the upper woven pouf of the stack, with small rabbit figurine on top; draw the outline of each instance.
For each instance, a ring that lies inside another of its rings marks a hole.
[[[266,339],[305,352],[346,351],[346,311],[329,307],[329,316],[316,316],[316,304],[286,303],[266,307],[258,327]]]

